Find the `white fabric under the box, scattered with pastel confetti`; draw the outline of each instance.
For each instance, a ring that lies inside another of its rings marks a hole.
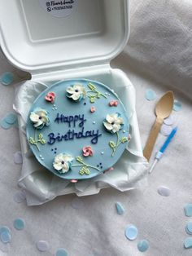
[[[137,117],[142,143],[145,145],[151,125],[155,120],[154,102],[144,98],[147,88],[158,97],[172,89],[182,103],[180,113],[175,113],[179,130],[169,145],[164,158],[149,177],[149,185],[132,192],[105,189],[95,196],[83,198],[85,206],[75,210],[71,201],[75,196],[61,196],[45,205],[28,207],[16,204],[13,195],[20,177],[20,166],[13,155],[20,150],[18,130],[0,130],[0,225],[11,227],[11,245],[8,253],[0,255],[33,256],[55,255],[59,247],[68,249],[71,256],[137,256],[137,241],[146,239],[150,249],[145,255],[191,255],[184,249],[188,236],[183,207],[191,203],[192,194],[192,2],[190,0],[134,0],[131,1],[131,34],[124,52],[112,62],[124,70],[137,90]],[[1,56],[0,73],[15,70]],[[0,118],[11,112],[14,87],[1,86]],[[164,141],[159,135],[155,149]],[[152,157],[153,158],[153,157]],[[160,185],[171,189],[171,196],[157,193]],[[120,201],[126,211],[116,214],[115,203]],[[15,231],[12,222],[24,218],[24,231]],[[137,241],[124,237],[124,227],[133,223],[139,235]],[[49,253],[37,251],[35,243],[46,240]],[[0,244],[2,246],[2,244]],[[1,249],[0,246],[0,249]]]

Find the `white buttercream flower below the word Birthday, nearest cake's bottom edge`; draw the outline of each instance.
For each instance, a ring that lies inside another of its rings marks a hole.
[[[59,174],[65,174],[71,169],[73,158],[70,155],[60,153],[55,157],[53,166],[58,170]]]

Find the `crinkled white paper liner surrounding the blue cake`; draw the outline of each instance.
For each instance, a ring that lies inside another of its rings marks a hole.
[[[124,192],[146,182],[146,170],[148,164],[142,156],[140,145],[137,117],[135,113],[135,91],[131,84],[116,86],[116,93],[123,101],[129,113],[131,140],[128,148],[124,151],[120,160],[116,163],[114,170],[100,174],[93,179],[81,180],[78,183],[71,183],[68,180],[60,179],[55,174],[41,166],[33,153],[28,148],[25,136],[25,126],[28,111],[34,99],[47,86],[41,82],[28,81],[20,84],[19,90],[15,91],[14,109],[19,114],[20,142],[23,154],[23,166],[19,185],[24,188],[28,205],[41,205],[53,200],[56,196],[76,193],[77,196],[88,196],[96,194],[102,188],[116,188]],[[112,88],[113,89],[113,88]]]

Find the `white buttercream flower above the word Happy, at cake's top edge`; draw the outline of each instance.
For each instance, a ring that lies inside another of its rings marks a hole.
[[[84,86],[81,85],[74,85],[74,86],[68,86],[67,88],[67,96],[68,98],[71,98],[73,100],[81,101],[81,99],[85,99],[86,97],[86,90]]]

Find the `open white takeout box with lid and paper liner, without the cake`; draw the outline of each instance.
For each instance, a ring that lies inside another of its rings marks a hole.
[[[128,39],[128,0],[0,0],[2,51],[11,64],[32,74],[32,81],[22,84],[14,105],[20,113],[24,157],[19,184],[26,190],[28,205],[41,204],[68,193],[90,195],[101,188],[126,191],[137,187],[146,173],[133,85],[120,69],[110,66],[110,61],[123,51]],[[50,86],[76,77],[103,82],[116,90],[131,113],[132,139],[128,155],[117,163],[115,170],[85,183],[67,184],[37,167],[38,163],[28,152],[24,119],[33,97],[28,98],[34,90],[37,96],[45,90],[44,84]]]

